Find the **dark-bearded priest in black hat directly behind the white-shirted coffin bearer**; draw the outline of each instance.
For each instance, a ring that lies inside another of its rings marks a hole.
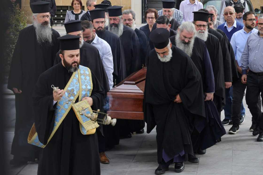
[[[111,33],[109,30],[105,30],[105,26],[104,26],[105,23],[101,23],[101,21],[105,22],[105,15],[104,15],[105,11],[106,11],[105,9],[95,8],[94,10],[90,11],[90,16],[91,16],[91,22],[93,24],[93,27],[98,37],[105,40],[110,45],[110,48],[112,49],[113,83],[117,85],[126,78],[124,50],[123,50],[121,39],[114,33]],[[97,24],[98,22],[100,23]]]

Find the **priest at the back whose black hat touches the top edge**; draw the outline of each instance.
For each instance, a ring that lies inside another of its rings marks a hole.
[[[177,30],[177,28],[180,26],[180,24],[174,19],[174,12],[173,12],[173,8],[174,8],[174,4],[175,1],[174,0],[163,0],[163,15],[165,15],[168,19],[169,19],[169,24],[171,24],[171,29],[173,30]],[[169,11],[171,14],[169,14]]]

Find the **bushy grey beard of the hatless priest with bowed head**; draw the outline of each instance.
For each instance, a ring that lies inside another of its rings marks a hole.
[[[192,56],[193,47],[194,47],[194,37],[191,41],[188,41],[188,43],[186,43],[185,41],[182,41],[180,39],[180,33],[181,32],[178,32],[175,37],[176,47],[182,49],[187,55]]]

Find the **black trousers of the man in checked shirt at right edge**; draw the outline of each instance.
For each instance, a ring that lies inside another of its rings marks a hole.
[[[246,90],[246,104],[252,114],[257,117],[257,126],[260,127],[260,131],[263,132],[263,118],[261,112],[261,104],[258,104],[258,97],[261,92],[261,98],[263,98],[263,75],[255,75],[251,71],[247,74],[247,90]]]

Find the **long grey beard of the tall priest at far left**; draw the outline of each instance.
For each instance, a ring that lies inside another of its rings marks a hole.
[[[34,20],[33,26],[36,28],[37,42],[39,44],[44,43],[46,41],[49,44],[52,44],[52,30],[50,26],[50,21],[38,23],[37,20]]]

